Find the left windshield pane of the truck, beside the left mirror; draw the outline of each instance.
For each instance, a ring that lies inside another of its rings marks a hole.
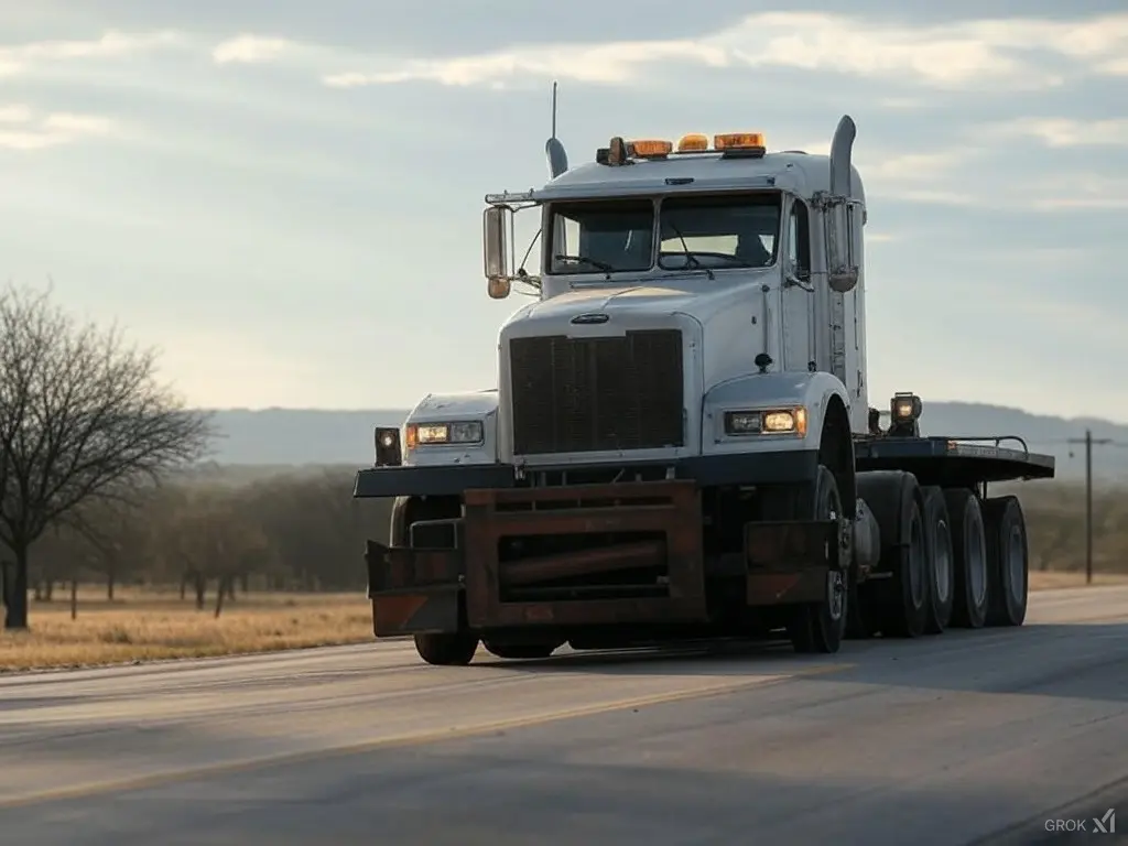
[[[555,203],[552,220],[549,273],[645,271],[653,264],[651,200]]]

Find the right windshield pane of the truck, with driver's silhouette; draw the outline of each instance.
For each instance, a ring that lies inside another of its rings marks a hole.
[[[767,267],[779,235],[778,193],[668,197],[660,212],[662,270]]]

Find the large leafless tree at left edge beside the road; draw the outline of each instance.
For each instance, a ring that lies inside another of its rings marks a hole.
[[[203,456],[208,415],[156,378],[151,351],[81,325],[50,291],[0,292],[0,541],[15,558],[6,628],[27,627],[28,549],[91,501],[131,503],[139,486]]]

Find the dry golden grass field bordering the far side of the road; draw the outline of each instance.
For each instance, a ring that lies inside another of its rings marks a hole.
[[[1082,587],[1082,573],[1030,574],[1031,590]],[[1094,585],[1128,583],[1128,575],[1102,575]],[[59,596],[59,594],[56,594]],[[215,619],[211,605],[197,611],[169,592],[122,590],[114,602],[105,589],[79,591],[78,616],[70,602],[32,607],[32,628],[0,633],[0,672],[77,668],[171,658],[367,643],[372,640],[368,600],[356,593],[249,593],[227,605]]]

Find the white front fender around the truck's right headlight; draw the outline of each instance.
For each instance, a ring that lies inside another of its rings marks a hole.
[[[818,450],[830,397],[849,412],[846,386],[830,373],[750,373],[720,382],[702,403],[702,455]],[[725,412],[807,409],[807,434],[726,435]]]

